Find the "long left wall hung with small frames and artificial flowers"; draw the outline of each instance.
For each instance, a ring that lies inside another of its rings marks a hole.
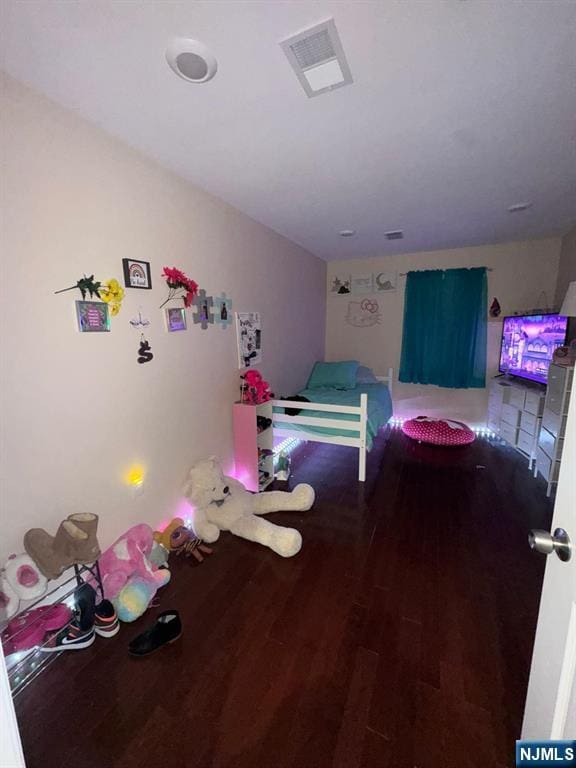
[[[107,545],[170,517],[194,460],[230,466],[234,326],[166,333],[164,265],[262,313],[261,371],[283,392],[323,357],[326,268],[16,81],[0,88],[1,563],[28,528],[54,532],[74,510],[100,514]],[[153,290],[126,291],[111,333],[78,333],[79,293],[54,291],[83,273],[121,278],[123,257],[151,262]],[[146,365],[129,324],[139,307],[151,320]],[[135,461],[147,468],[138,497],[122,480]]]

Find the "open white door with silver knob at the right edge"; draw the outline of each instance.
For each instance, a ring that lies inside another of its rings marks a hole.
[[[575,379],[576,382],[576,379]],[[552,532],[563,528],[571,557],[548,555],[532,654],[523,739],[576,738],[576,385],[568,423]],[[534,557],[542,557],[534,553]]]

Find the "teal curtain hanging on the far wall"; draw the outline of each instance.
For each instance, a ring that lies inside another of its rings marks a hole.
[[[486,267],[408,272],[400,381],[486,384]]]

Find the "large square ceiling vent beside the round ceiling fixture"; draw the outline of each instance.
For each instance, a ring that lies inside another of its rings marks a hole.
[[[319,96],[352,82],[334,19],[289,37],[280,45],[308,96]]]

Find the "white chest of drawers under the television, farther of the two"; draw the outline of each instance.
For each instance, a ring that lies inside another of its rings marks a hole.
[[[528,459],[532,469],[538,454],[538,437],[546,390],[538,384],[498,377],[490,384],[488,429]]]

